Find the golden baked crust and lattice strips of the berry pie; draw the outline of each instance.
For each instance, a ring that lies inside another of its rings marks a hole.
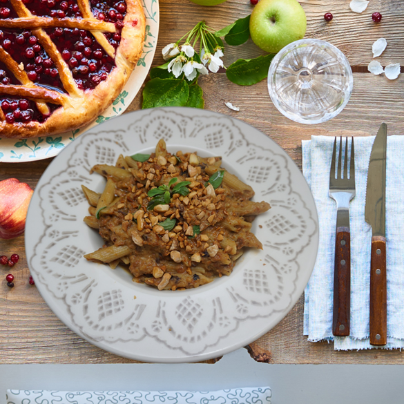
[[[49,104],[59,104],[44,122],[8,123],[0,108],[0,137],[28,138],[40,135],[55,135],[79,128],[93,121],[105,110],[122,91],[137,60],[142,55],[146,19],[139,0],[126,0],[126,15],[121,32],[119,46],[113,48],[103,32],[115,32],[115,24],[99,21],[93,16],[88,1],[78,0],[83,19],[50,17],[35,17],[20,0],[11,0],[12,6],[20,18],[0,20],[0,30],[6,28],[30,29],[37,37],[39,44],[46,50],[59,72],[59,77],[67,93],[58,92],[52,88],[44,88],[30,81],[23,68],[17,61],[0,46],[0,60],[21,82],[19,85],[0,84],[1,97],[26,97],[35,101],[39,111],[48,110]],[[44,28],[50,27],[80,28],[91,32],[104,52],[115,59],[115,67],[110,70],[108,77],[95,88],[80,89],[73,77],[67,62],[61,57],[54,41],[50,39]],[[41,28],[37,28],[41,27]],[[96,30],[92,30],[96,29]]]

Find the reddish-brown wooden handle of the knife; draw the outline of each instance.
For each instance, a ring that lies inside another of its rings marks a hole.
[[[381,235],[372,237],[369,336],[372,345],[387,343],[386,239]]]

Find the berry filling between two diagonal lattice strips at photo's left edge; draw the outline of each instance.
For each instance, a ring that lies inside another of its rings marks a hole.
[[[64,91],[52,59],[35,39],[37,38],[28,30],[0,30],[0,45],[3,45],[18,64],[23,64],[30,80]]]

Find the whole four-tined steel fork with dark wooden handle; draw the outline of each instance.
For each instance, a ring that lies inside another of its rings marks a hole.
[[[334,261],[334,309],[332,334],[349,336],[351,305],[351,234],[349,231],[349,202],[355,196],[355,155],[354,138],[351,142],[351,155],[348,170],[348,138],[345,140],[344,170],[342,168],[343,138],[340,137],[338,167],[336,173],[336,144],[332,151],[329,171],[329,196],[336,201],[336,241]]]

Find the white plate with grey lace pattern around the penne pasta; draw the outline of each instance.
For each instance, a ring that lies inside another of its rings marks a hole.
[[[115,164],[120,153],[151,153],[160,138],[171,152],[221,155],[253,186],[254,200],[271,204],[253,222],[263,250],[249,250],[231,276],[197,289],[157,291],[83,258],[103,244],[83,222],[81,184],[105,184],[90,168]],[[215,358],[262,336],[302,294],[317,247],[314,200],[287,153],[237,119],[195,108],[139,110],[81,135],[39,180],[26,221],[30,271],[60,320],[102,349],[146,362]]]

